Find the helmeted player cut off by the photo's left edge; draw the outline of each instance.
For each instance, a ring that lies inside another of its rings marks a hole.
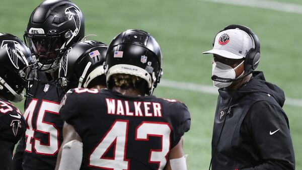
[[[0,169],[11,169],[15,144],[26,130],[23,115],[12,102],[24,98],[23,90],[29,78],[30,50],[17,37],[0,33]]]

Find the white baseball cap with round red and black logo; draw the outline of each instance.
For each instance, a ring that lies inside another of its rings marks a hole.
[[[202,54],[217,54],[225,58],[245,58],[251,48],[255,48],[253,38],[243,30],[230,29],[218,33],[213,49]]]

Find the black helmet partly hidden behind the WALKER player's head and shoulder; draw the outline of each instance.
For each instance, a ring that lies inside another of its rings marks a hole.
[[[72,88],[90,88],[89,83],[104,74],[107,48],[106,44],[94,40],[72,45],[60,60],[57,86],[65,92]]]

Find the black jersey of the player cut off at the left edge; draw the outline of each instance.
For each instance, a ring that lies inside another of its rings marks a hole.
[[[19,109],[0,98],[0,169],[11,169],[15,144],[26,130]]]

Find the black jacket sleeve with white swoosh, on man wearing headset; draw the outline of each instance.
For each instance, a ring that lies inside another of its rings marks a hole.
[[[294,152],[284,111],[269,102],[255,103],[245,120],[262,163],[247,169],[294,169]]]

